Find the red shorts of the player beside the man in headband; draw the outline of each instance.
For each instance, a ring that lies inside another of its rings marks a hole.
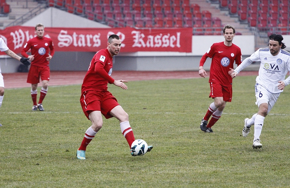
[[[232,101],[232,87],[223,86],[219,83],[213,82],[209,83],[209,85],[211,87],[211,93],[209,94],[209,97],[223,97],[223,100],[226,102]]]

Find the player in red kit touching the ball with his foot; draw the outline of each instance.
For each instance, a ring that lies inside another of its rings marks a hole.
[[[121,49],[121,40],[117,35],[110,35],[108,47],[98,51],[92,61],[83,84],[81,85],[80,103],[86,117],[92,122],[85,133],[81,146],[77,150],[77,159],[86,159],[86,147],[102,128],[102,114],[106,119],[115,117],[120,122],[122,134],[126,138],[129,147],[135,141],[135,137],[129,124],[129,116],[118,104],[117,99],[108,91],[108,83],[126,90],[124,80],[114,80],[111,77],[113,68],[113,56],[118,55]],[[147,152],[153,146],[148,146]],[[131,155],[135,154],[131,152]]]

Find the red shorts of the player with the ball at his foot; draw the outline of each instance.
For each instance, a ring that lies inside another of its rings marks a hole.
[[[83,92],[79,101],[88,119],[92,111],[101,111],[106,119],[112,118],[111,110],[119,105],[117,99],[108,91]]]

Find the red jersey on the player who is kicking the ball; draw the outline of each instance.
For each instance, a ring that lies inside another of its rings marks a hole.
[[[88,72],[81,85],[81,92],[108,90],[108,83],[115,81],[111,77],[112,68],[113,57],[108,49],[98,51],[90,62]]]

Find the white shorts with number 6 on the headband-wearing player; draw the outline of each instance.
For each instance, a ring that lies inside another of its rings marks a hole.
[[[258,107],[262,103],[268,103],[267,113],[270,112],[270,110],[273,108],[274,104],[278,100],[278,97],[280,96],[280,93],[271,93],[258,83],[256,83],[255,85],[255,93],[257,99],[257,102],[255,104],[258,105]]]

